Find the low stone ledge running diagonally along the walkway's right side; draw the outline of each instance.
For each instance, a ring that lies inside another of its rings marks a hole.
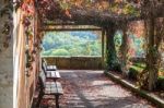
[[[117,75],[114,75],[113,73],[109,73],[109,72],[104,72],[104,73],[105,73],[105,75],[110,77],[113,81],[121,84],[122,86],[129,88],[131,92],[137,93],[141,97],[143,97],[143,98],[148,99],[149,101],[151,101],[152,104],[156,105],[157,108],[164,108],[164,100],[159,98],[157,96],[155,96],[151,93],[148,93],[143,89],[140,89],[139,87],[130,84],[129,82],[127,82],[126,80],[124,80]]]

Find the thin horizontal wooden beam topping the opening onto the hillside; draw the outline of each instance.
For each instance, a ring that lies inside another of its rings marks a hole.
[[[42,28],[44,32],[63,32],[63,31],[102,31],[102,28]]]

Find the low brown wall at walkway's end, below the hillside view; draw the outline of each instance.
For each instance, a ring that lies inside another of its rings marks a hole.
[[[102,70],[102,57],[43,57],[48,64],[56,64],[58,69],[70,70]]]

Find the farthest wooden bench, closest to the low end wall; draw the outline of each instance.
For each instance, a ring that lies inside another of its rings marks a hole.
[[[57,67],[48,65],[45,59],[42,60],[42,67],[45,68],[46,71],[57,71]]]

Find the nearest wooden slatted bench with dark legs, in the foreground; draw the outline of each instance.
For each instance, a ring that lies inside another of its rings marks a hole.
[[[39,95],[36,107],[39,107],[39,104],[44,97],[44,95],[52,95],[56,99],[56,107],[59,108],[59,96],[63,95],[62,86],[59,82],[48,82],[46,81],[46,76],[44,72],[39,74]]]

